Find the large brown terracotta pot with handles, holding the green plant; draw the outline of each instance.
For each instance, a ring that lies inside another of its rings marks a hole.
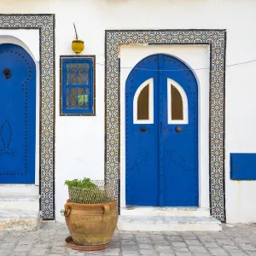
[[[104,204],[79,204],[67,200],[65,219],[77,245],[108,244],[118,222],[116,201]]]

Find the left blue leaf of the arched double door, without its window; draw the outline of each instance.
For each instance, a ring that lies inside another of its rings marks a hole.
[[[144,71],[143,68],[154,71]],[[125,84],[126,205],[159,205],[158,171],[158,56],[152,55],[131,71]],[[154,79],[154,124],[133,124],[133,98],[137,88]],[[141,131],[146,126],[147,131]]]

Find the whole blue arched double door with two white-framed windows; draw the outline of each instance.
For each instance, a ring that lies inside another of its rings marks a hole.
[[[198,89],[171,55],[150,55],[125,84],[127,206],[198,206]]]

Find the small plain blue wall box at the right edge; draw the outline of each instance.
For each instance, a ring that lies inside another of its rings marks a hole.
[[[256,154],[230,154],[230,179],[256,180]]]

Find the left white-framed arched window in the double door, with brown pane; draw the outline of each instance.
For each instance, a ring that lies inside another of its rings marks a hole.
[[[133,123],[154,123],[154,79],[141,84],[133,98]]]

